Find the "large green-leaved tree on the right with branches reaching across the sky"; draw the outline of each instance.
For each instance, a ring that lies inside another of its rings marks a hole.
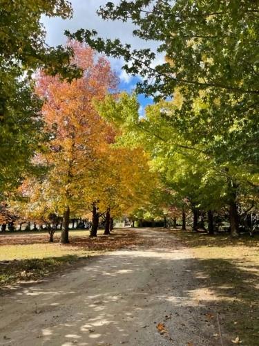
[[[160,42],[157,53],[164,52],[165,60],[153,67],[156,54],[148,49],[133,50],[118,39],[105,41],[90,30],[71,35],[107,55],[124,57],[124,70],[143,78],[138,92],[155,100],[180,93],[180,107],[161,110],[164,116],[155,125],[138,126],[151,133],[163,126],[165,134],[165,126],[171,127],[173,148],[207,164],[200,172],[207,185],[200,188],[209,192],[215,176],[223,187],[218,196],[229,206],[231,234],[237,235],[240,196],[247,189],[253,196],[258,193],[256,2],[109,1],[98,13],[103,19],[132,20],[135,35]],[[193,203],[199,204],[195,198]]]

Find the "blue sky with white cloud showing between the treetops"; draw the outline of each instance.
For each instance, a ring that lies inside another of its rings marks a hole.
[[[122,42],[129,43],[133,48],[152,48],[154,51],[157,48],[157,42],[145,42],[142,39],[133,37],[132,30],[134,28],[131,23],[123,23],[121,21],[103,21],[96,14],[99,6],[105,5],[106,0],[70,0],[73,7],[73,18],[68,20],[60,18],[42,19],[46,28],[46,41],[50,46],[66,43],[65,30],[70,30],[71,33],[79,28],[88,28],[97,30],[99,36],[104,38],[119,38]],[[113,2],[119,2],[115,0]],[[161,61],[162,56],[157,57],[157,61]],[[136,82],[137,77],[127,75],[122,71],[122,60],[111,59],[111,66],[116,71],[121,80],[120,89],[131,92]],[[151,98],[145,98],[144,95],[139,95],[140,114],[143,115],[146,104],[153,103]]]

